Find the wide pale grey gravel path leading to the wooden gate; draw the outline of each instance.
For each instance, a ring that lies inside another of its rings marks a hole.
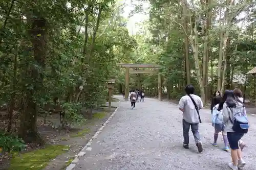
[[[122,99],[122,96],[115,96]],[[222,170],[229,169],[230,153],[211,145],[214,129],[210,112],[200,111],[202,124],[199,131],[203,142],[203,153],[199,154],[193,134],[190,132],[190,149],[182,147],[182,114],[177,105],[145,99],[136,103],[131,110],[130,103],[121,100],[119,109],[111,122],[93,140],[92,151],[80,157],[74,169],[84,170]],[[244,149],[244,169],[256,167],[256,117],[249,116],[250,131],[243,138],[248,145]],[[222,136],[218,141],[223,147]]]

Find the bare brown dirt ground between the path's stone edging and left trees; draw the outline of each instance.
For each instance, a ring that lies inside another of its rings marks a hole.
[[[44,124],[43,117],[38,117],[38,132],[47,144],[69,146],[69,150],[66,153],[53,159],[44,170],[65,169],[115,109],[116,107],[113,107],[109,111],[107,107],[102,107],[99,110],[93,110],[93,119],[87,119],[83,124],[75,125],[65,130],[56,128],[59,125],[59,115],[57,114],[48,116],[46,124]],[[3,112],[1,114],[3,115]],[[0,119],[0,128],[3,128],[5,124],[5,121]],[[18,123],[15,123],[14,128],[17,126]],[[25,152],[35,149],[38,149],[38,146],[29,144]],[[0,156],[0,169],[7,170],[10,166],[10,160],[11,157],[8,155]]]

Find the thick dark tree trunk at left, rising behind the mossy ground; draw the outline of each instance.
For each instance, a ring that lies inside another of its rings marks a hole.
[[[25,96],[23,98],[23,111],[20,116],[19,136],[28,143],[42,144],[44,141],[37,132],[37,103],[35,101],[36,94],[43,88],[44,69],[46,60],[46,41],[47,41],[47,23],[46,19],[31,15],[33,19],[28,17],[28,24],[31,25],[28,33],[31,36],[31,43],[33,45],[34,61],[41,67],[41,71],[38,71],[34,65],[30,65],[27,71],[27,76],[30,77],[29,88],[24,86]]]

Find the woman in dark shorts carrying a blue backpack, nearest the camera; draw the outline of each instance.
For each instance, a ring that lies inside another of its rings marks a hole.
[[[233,90],[226,90],[223,95],[223,102],[220,103],[218,110],[222,110],[223,124],[231,149],[232,162],[228,166],[232,170],[237,170],[246,164],[239,147],[239,140],[248,132],[249,128],[245,107],[234,95]]]

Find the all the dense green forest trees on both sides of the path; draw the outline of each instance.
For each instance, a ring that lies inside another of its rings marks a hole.
[[[144,3],[150,3],[149,19],[131,35],[121,16],[125,4],[113,0],[2,1],[5,130],[44,143],[37,133],[39,113],[59,113],[62,126],[84,122],[108,99],[108,79],[116,79],[115,92],[124,91],[124,69],[117,63],[161,65],[167,98],[179,98],[188,83],[204,103],[215,90],[236,86],[255,98],[256,79],[245,75],[256,60],[254,1],[139,1],[130,15],[142,12]],[[157,78],[131,75],[130,88],[156,96]]]

